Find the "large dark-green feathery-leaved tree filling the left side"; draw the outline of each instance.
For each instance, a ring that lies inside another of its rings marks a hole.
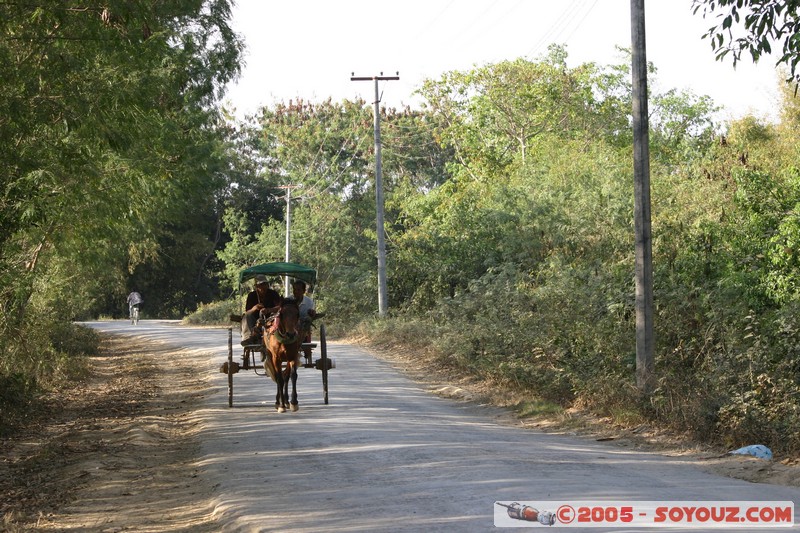
[[[208,213],[227,166],[215,103],[242,47],[230,15],[228,0],[0,2],[0,373],[14,350],[46,358],[40,321],[124,299]]]

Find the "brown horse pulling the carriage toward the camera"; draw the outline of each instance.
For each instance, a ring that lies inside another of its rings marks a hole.
[[[264,333],[267,348],[264,369],[278,385],[275,408],[279,413],[297,411],[297,366],[300,363],[302,335],[298,331],[300,309],[294,300],[284,300],[272,326]],[[286,368],[283,368],[284,363]],[[292,397],[289,400],[289,380]]]

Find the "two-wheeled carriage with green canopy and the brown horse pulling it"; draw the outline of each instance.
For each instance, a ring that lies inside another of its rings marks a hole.
[[[265,263],[247,268],[239,273],[240,289],[247,281],[257,277],[288,276],[309,285],[316,284],[314,269],[294,263]],[[241,292],[241,291],[240,291]],[[228,407],[233,407],[233,376],[241,370],[252,370],[256,375],[267,376],[277,385],[275,407],[283,412],[287,407],[297,410],[297,369],[312,368],[322,372],[322,396],[328,403],[328,371],[335,363],[328,358],[325,341],[325,324],[315,324],[322,313],[303,317],[296,301],[284,298],[279,311],[272,317],[260,335],[242,345],[241,361],[233,357],[233,328],[228,328],[228,361],[220,370],[228,375]],[[239,321],[243,315],[231,316]],[[312,328],[317,329],[318,342],[310,342]],[[312,353],[319,347],[319,359],[312,361]],[[258,360],[256,360],[258,357]],[[302,359],[302,360],[301,360]],[[292,396],[289,397],[289,382],[292,383]]]

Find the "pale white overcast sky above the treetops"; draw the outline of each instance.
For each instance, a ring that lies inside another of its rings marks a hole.
[[[246,45],[240,79],[226,100],[237,116],[302,97],[374,101],[374,82],[351,75],[396,75],[380,83],[387,107],[419,107],[425,79],[445,72],[566,46],[570,66],[616,64],[631,46],[630,0],[235,0],[232,25]],[[733,68],[716,61],[707,39],[712,21],[692,0],[645,0],[647,60],[657,87],[710,96],[721,118],[777,116],[771,57],[749,56]]]

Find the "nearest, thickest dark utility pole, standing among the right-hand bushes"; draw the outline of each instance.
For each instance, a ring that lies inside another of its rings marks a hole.
[[[636,386],[653,390],[653,242],[650,224],[650,124],[647,114],[647,53],[644,0],[631,0],[633,73],[633,194],[636,234]]]

